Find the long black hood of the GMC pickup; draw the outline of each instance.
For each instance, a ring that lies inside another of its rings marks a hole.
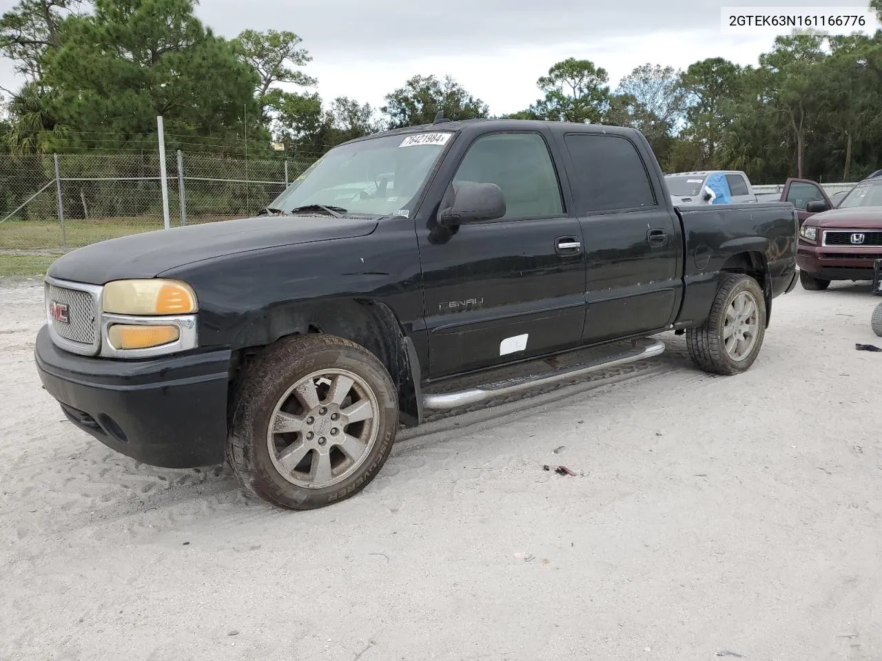
[[[314,216],[261,216],[173,227],[93,243],[49,267],[58,279],[104,285],[110,280],[155,278],[163,271],[250,250],[365,236],[377,221]]]

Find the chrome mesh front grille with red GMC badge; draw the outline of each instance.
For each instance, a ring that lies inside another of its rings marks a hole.
[[[100,301],[100,286],[47,278],[46,319],[52,341],[72,353],[98,353],[101,349]]]

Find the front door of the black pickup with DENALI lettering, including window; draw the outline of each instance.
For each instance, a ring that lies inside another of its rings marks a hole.
[[[418,227],[431,378],[579,344],[585,256],[568,218],[548,137],[477,137],[453,182],[492,182],[505,217],[455,231]],[[448,182],[445,182],[445,185]]]

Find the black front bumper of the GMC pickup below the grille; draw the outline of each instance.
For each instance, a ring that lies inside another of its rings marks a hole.
[[[222,464],[230,352],[152,360],[86,358],[59,349],[43,326],[34,348],[43,387],[77,427],[143,464]]]

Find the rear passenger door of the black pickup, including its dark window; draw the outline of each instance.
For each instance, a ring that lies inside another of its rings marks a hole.
[[[666,189],[653,186],[649,164],[628,135],[573,132],[563,142],[585,237],[583,341],[664,328],[683,287],[682,235]]]

